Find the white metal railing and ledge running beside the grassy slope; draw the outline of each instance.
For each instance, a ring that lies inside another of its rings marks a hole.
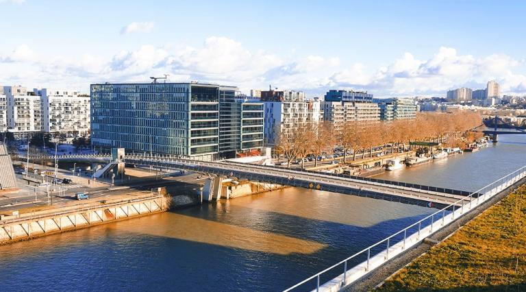
[[[292,291],[300,288],[305,290],[308,289],[306,285],[309,284],[311,285],[310,287],[316,291],[319,291],[320,289],[332,289],[332,291],[341,289],[355,280],[362,278],[377,267],[384,265],[390,259],[402,254],[410,249],[410,247],[420,243],[431,234],[434,234],[444,226],[449,225],[449,223],[462,217],[473,210],[476,206],[486,202],[497,193],[508,188],[508,186],[512,186],[512,184],[525,177],[526,166],[499,178],[499,180],[496,180],[483,188],[480,188],[470,195],[458,200],[458,202],[450,204],[449,206],[412,223],[410,226],[395,232],[385,239],[360,250],[360,252],[357,252],[344,260],[340,260],[340,262],[331,267],[315,273],[313,276],[306,278],[284,291]],[[475,194],[480,195],[475,198],[473,197]],[[355,266],[348,269],[349,265]],[[338,276],[335,278],[335,275]],[[321,284],[323,283],[321,281],[325,282],[325,284]]]

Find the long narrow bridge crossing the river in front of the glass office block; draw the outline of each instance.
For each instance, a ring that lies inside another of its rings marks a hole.
[[[32,159],[40,158],[40,156],[32,157]],[[49,156],[47,158],[55,159],[55,156]],[[77,160],[84,162],[90,160],[93,162],[110,162],[112,159],[110,156],[101,155],[63,155],[57,156],[56,158],[60,161]],[[313,188],[334,193],[373,197],[376,199],[385,199],[388,201],[434,208],[444,208],[444,206],[458,204],[457,202],[460,199],[471,199],[471,197],[467,198],[471,192],[451,188],[438,188],[421,184],[362,178],[353,175],[323,173],[319,171],[300,171],[239,162],[185,160],[175,158],[175,156],[149,154],[126,154],[120,159],[113,160],[113,162],[110,163],[116,163],[116,161],[162,169],[183,169],[196,173],[204,173],[206,175],[211,175],[212,177],[235,177],[247,179],[253,182],[267,182],[286,186]],[[107,167],[106,169],[109,170],[110,167]],[[477,197],[477,194],[473,195],[473,197]]]

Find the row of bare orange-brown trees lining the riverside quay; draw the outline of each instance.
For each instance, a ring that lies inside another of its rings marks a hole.
[[[310,154],[315,156],[315,166],[318,156],[332,153],[334,147],[340,147],[344,152],[344,162],[347,154],[353,154],[356,159],[358,152],[368,151],[372,156],[373,148],[390,144],[403,145],[411,141],[448,141],[454,146],[466,138],[473,140],[477,136],[466,134],[466,131],[481,124],[481,117],[475,112],[455,113],[420,113],[416,119],[364,122],[350,121],[340,125],[323,121],[320,123],[303,123],[288,132],[281,132],[275,145],[276,154],[283,155],[290,167],[293,160],[304,158]]]

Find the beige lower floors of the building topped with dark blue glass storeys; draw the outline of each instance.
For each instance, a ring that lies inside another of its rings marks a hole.
[[[379,121],[380,108],[372,102],[322,101],[323,120],[342,124],[348,121]]]

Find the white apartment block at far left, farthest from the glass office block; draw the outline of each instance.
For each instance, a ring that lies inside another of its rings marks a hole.
[[[29,133],[42,130],[42,101],[38,95],[27,92],[23,86],[4,86],[7,99],[8,129]]]

